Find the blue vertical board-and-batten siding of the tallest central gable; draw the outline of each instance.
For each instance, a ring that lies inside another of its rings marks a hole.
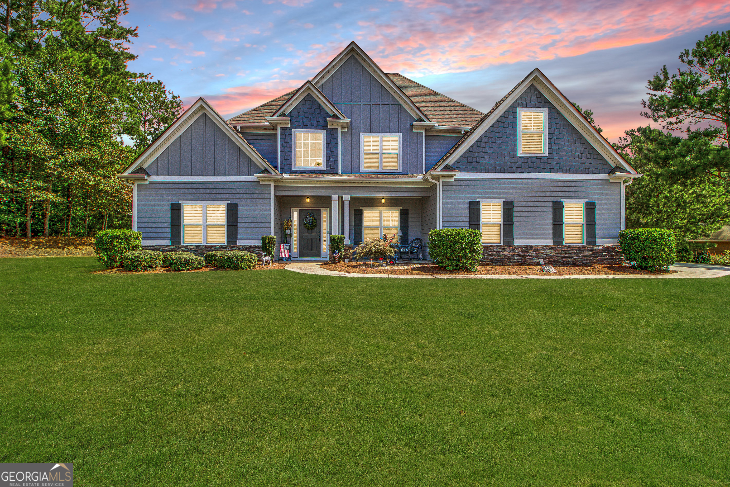
[[[322,93],[351,120],[342,132],[342,172],[360,174],[360,133],[401,133],[401,173],[423,174],[423,133],[414,132],[415,118],[350,57],[322,85]]]

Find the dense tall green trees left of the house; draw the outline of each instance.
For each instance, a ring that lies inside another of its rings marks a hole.
[[[115,174],[182,101],[127,69],[127,12],[126,0],[0,0],[0,235],[131,227]]]

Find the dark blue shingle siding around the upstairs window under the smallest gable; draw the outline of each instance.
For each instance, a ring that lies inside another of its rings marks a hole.
[[[279,129],[279,171],[283,173],[337,173],[339,170],[337,128],[327,128],[327,119],[330,114],[314,97],[307,95],[286,116],[291,118],[291,122],[289,128]],[[295,129],[327,130],[325,171],[293,168],[292,130]]]

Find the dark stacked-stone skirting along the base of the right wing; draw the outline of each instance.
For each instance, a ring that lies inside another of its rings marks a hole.
[[[491,265],[622,265],[618,245],[485,245],[482,263]]]

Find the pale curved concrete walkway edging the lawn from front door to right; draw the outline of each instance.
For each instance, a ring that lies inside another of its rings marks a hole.
[[[416,279],[657,279],[657,278],[690,278],[690,277],[722,277],[730,275],[730,267],[726,265],[704,265],[704,264],[687,264],[685,262],[677,262],[675,265],[669,266],[672,270],[677,270],[675,274],[659,274],[657,276],[631,275],[626,276],[553,276],[545,274],[545,276],[443,276],[441,274],[359,274],[339,272],[338,270],[326,270],[319,264],[310,262],[292,262],[285,269],[293,270],[304,274],[317,274],[318,276],[342,276],[342,277],[396,277],[396,278],[416,278]]]

